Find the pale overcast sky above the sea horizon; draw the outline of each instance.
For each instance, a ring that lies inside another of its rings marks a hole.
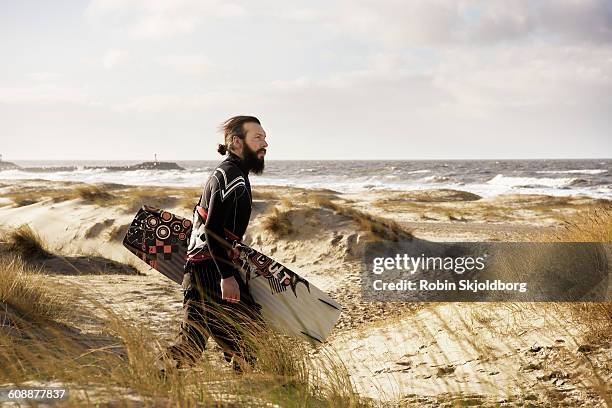
[[[609,0],[0,2],[4,160],[612,157]]]

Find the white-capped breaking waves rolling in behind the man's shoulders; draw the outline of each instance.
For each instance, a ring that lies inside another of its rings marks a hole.
[[[119,163],[124,164],[124,163]],[[346,193],[358,193],[370,189],[410,190],[423,188],[456,188],[482,196],[495,196],[514,192],[542,193],[550,195],[586,194],[594,197],[610,197],[610,173],[538,175],[534,171],[513,169],[474,170],[471,168],[449,169],[442,174],[435,169],[410,170],[397,166],[392,173],[386,169],[372,171],[367,166],[352,168],[342,166],[317,167],[314,165],[288,166],[273,163],[263,176],[251,178],[253,185],[283,185],[303,188],[328,188]],[[284,166],[284,167],[283,167]],[[56,166],[57,169],[59,166]],[[201,187],[214,166],[208,163],[188,167],[186,170],[113,171],[110,167],[70,168],[69,171],[28,172],[22,169],[0,171],[0,180],[44,178],[54,181],[80,181],[85,183],[117,183],[139,186]],[[116,166],[114,166],[116,167]],[[580,167],[575,165],[572,167]],[[597,168],[596,164],[589,166]],[[542,167],[540,167],[542,168]],[[314,171],[311,171],[314,170]],[[453,171],[451,173],[451,170]],[[589,169],[587,169],[589,170]],[[599,169],[601,170],[601,169]],[[513,172],[516,171],[516,172]],[[520,171],[520,172],[519,172]],[[569,170],[563,170],[569,172]],[[583,170],[581,170],[583,171]],[[502,174],[504,172],[504,174]],[[436,175],[436,173],[438,173]],[[485,174],[490,173],[490,174]],[[498,174],[499,173],[499,174]],[[407,174],[415,174],[408,176]],[[497,174],[497,175],[496,175]],[[488,181],[487,181],[488,180]]]

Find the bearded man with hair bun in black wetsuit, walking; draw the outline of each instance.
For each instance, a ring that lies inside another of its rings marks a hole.
[[[244,332],[260,321],[232,263],[237,250],[226,237],[229,231],[242,239],[246,231],[252,206],[249,173],[263,172],[268,144],[266,132],[253,116],[232,117],[222,130],[225,143],[217,150],[227,157],[210,175],[194,209],[183,279],[183,322],[166,357],[175,366],[191,366],[212,336],[226,360],[233,359],[234,369],[242,371],[254,361]]]

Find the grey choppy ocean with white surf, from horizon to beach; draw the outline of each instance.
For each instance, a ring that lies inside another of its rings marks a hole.
[[[201,186],[217,161],[176,161],[184,170],[109,169],[137,161],[15,161],[34,169],[0,170],[0,180],[46,179],[150,186]],[[97,167],[86,169],[87,166]],[[53,168],[56,169],[53,169]],[[72,167],[57,169],[57,167]],[[413,160],[266,162],[257,185],[326,188],[342,193],[368,190],[451,188],[484,197],[507,193],[586,195],[612,199],[612,159]]]

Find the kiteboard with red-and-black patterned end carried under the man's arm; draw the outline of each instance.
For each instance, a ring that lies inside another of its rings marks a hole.
[[[190,220],[145,205],[130,224],[123,245],[151,268],[182,284],[191,228]],[[323,343],[340,317],[340,304],[274,259],[242,242],[233,245],[239,250],[233,262],[263,319],[281,333]]]

